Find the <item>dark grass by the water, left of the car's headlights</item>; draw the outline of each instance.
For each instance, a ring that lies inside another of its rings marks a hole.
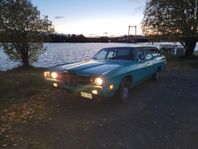
[[[0,72],[0,104],[26,99],[45,86],[41,69],[15,69]]]

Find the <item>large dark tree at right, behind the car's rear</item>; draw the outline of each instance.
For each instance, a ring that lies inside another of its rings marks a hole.
[[[198,40],[198,0],[149,0],[143,19],[145,35],[179,41],[192,56]]]

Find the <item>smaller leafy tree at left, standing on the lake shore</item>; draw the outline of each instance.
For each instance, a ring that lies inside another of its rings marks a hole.
[[[42,54],[43,35],[52,32],[52,22],[30,0],[0,1],[0,32],[3,35],[4,52],[12,60],[29,66]]]

